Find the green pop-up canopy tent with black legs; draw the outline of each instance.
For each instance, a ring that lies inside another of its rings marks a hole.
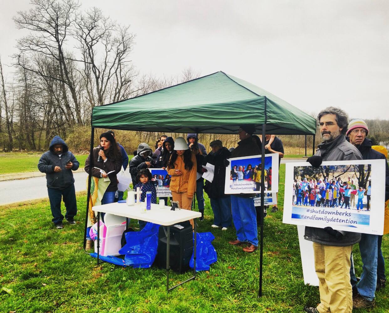
[[[256,134],[262,134],[263,138],[265,133],[313,136],[316,133],[316,121],[308,114],[247,81],[216,72],[128,100],[94,107],[90,153],[92,155],[95,128],[236,134],[241,124],[255,125]],[[92,163],[91,159],[91,166]],[[262,163],[265,163],[265,141],[262,142]],[[261,181],[263,214],[263,171]],[[88,178],[87,199],[90,183],[91,176]],[[86,214],[88,205],[89,201]],[[260,227],[259,295],[262,293],[263,223]],[[84,248],[85,244],[84,236]]]

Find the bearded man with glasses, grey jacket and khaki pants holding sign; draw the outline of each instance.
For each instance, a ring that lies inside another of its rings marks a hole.
[[[358,149],[346,141],[347,113],[336,107],[327,107],[317,116],[321,137],[314,156],[308,162],[319,167],[322,161],[361,160]],[[319,278],[320,304],[316,308],[305,306],[310,313],[351,313],[352,287],[350,283],[350,257],[352,246],[361,240],[361,234],[305,227],[304,239],[313,242],[315,271]]]

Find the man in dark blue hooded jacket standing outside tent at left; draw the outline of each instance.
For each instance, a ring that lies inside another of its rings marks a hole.
[[[53,223],[57,229],[63,228],[63,215],[61,214],[61,198],[66,207],[65,218],[70,225],[74,225],[74,216],[77,214],[77,202],[73,171],[80,163],[68,149],[60,136],[54,136],[50,142],[49,151],[39,159],[38,169],[46,173],[47,193],[49,194]]]

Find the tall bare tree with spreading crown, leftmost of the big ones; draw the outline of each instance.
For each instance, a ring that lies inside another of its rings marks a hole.
[[[82,124],[77,92],[69,70],[69,59],[72,57],[66,54],[64,48],[67,37],[72,34],[71,28],[80,5],[73,0],[32,0],[31,3],[34,7],[30,11],[18,11],[18,17],[13,18],[19,29],[32,31],[30,35],[18,40],[19,54],[15,56],[16,63],[28,71],[61,83],[67,119],[73,122],[72,108],[66,92],[68,88],[74,103],[75,119],[78,124]],[[39,67],[22,62],[22,55],[31,53],[55,60],[59,75],[47,76]]]

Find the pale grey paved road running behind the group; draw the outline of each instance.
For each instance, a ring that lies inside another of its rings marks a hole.
[[[281,164],[305,162],[305,160],[305,158],[281,159]],[[85,172],[78,172],[73,175],[75,191],[86,190],[86,179],[88,175]],[[47,197],[46,176],[0,181],[0,195],[0,205],[45,198]]]

